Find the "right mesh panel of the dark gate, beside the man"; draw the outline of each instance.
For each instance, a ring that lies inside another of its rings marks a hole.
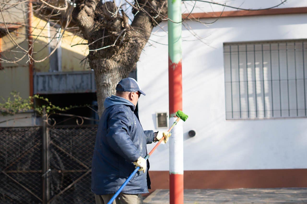
[[[97,126],[48,130],[50,203],[93,203],[91,161]]]

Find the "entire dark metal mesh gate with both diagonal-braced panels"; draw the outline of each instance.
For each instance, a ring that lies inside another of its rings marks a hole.
[[[0,128],[0,203],[94,203],[97,126]]]

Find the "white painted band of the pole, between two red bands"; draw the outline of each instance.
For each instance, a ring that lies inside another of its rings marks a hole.
[[[177,118],[171,117],[169,124]],[[183,174],[183,122],[179,120],[173,127],[169,138],[169,174]]]

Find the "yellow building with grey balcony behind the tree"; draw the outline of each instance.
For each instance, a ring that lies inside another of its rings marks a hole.
[[[47,22],[28,9],[31,10],[28,3],[2,8],[0,96],[7,99],[17,91],[22,98],[39,94],[60,107],[93,104],[94,73],[86,60],[81,63],[88,55],[87,41],[73,31],[76,28],[70,26],[64,32],[59,23]],[[93,116],[87,109],[71,113]],[[35,119],[33,111],[13,116],[0,114],[0,126],[30,126],[38,124]]]

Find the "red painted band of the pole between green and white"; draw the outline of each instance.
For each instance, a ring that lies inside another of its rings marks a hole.
[[[169,115],[182,110],[182,63],[169,58]]]

